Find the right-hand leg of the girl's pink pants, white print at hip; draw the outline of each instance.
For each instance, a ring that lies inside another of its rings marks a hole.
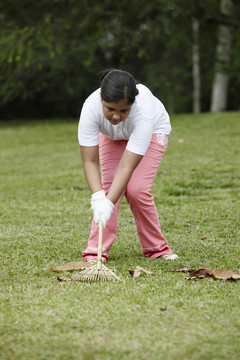
[[[134,170],[126,188],[126,199],[134,215],[144,256],[157,258],[171,253],[161,232],[157,210],[151,193],[153,180],[158,172],[168,144],[168,137],[153,134],[149,148]]]

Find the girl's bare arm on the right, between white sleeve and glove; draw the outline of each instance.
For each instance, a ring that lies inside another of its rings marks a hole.
[[[142,155],[134,154],[128,150],[124,151],[119,162],[117,173],[107,195],[107,198],[111,200],[113,204],[115,204],[121,196],[132,176],[134,169],[140,163],[142,158]]]

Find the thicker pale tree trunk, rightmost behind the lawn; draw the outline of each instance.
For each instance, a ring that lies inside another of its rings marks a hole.
[[[221,0],[220,11],[225,18],[231,17],[232,8],[232,0]],[[227,109],[230,52],[231,28],[228,25],[220,24],[218,29],[215,72],[212,85],[211,112],[224,111]]]

